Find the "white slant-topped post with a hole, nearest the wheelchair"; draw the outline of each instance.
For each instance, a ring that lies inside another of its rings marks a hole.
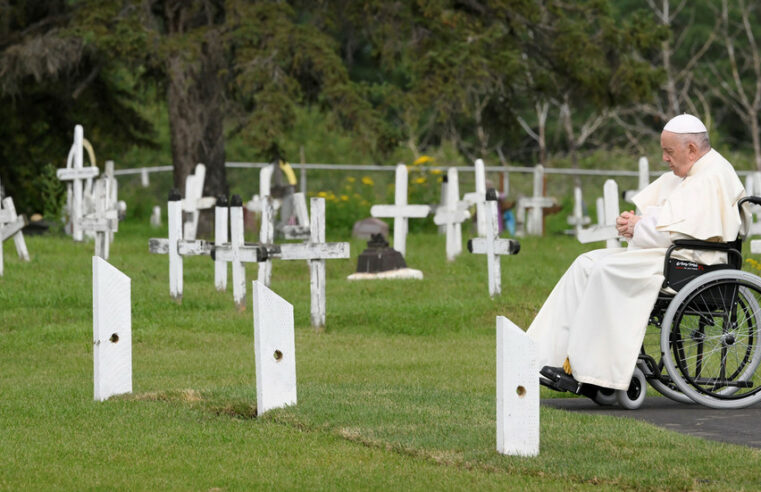
[[[534,341],[497,316],[497,451],[539,454],[539,360]]]

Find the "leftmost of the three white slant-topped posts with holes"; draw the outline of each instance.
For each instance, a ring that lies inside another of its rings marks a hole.
[[[93,256],[93,372],[95,400],[132,392],[130,278]]]

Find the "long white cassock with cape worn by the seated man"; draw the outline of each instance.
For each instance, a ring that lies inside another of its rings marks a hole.
[[[529,326],[540,367],[560,366],[568,357],[577,381],[627,389],[663,284],[666,249],[676,239],[737,239],[737,201],[744,194],[732,165],[713,149],[685,178],[669,172],[638,193],[634,203],[644,213],[629,247],[576,258]],[[679,257],[725,261],[705,251],[682,250]]]

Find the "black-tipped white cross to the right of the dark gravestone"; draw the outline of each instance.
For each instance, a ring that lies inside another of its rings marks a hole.
[[[521,249],[518,241],[500,239],[499,210],[497,207],[497,191],[490,188],[486,192],[486,237],[468,240],[468,251],[486,255],[486,265],[489,274],[489,295],[494,297],[502,292],[502,273],[500,256],[516,255]]]

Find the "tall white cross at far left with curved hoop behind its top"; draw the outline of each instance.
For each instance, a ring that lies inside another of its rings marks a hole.
[[[74,143],[71,149],[69,149],[69,155],[66,158],[66,168],[56,171],[58,179],[70,181],[66,185],[66,210],[69,216],[71,235],[75,241],[82,241],[84,239],[80,221],[83,215],[82,202],[86,183],[91,183],[92,179],[99,173],[95,165],[83,167],[83,139],[84,130],[82,125],[76,125],[74,127]]]

